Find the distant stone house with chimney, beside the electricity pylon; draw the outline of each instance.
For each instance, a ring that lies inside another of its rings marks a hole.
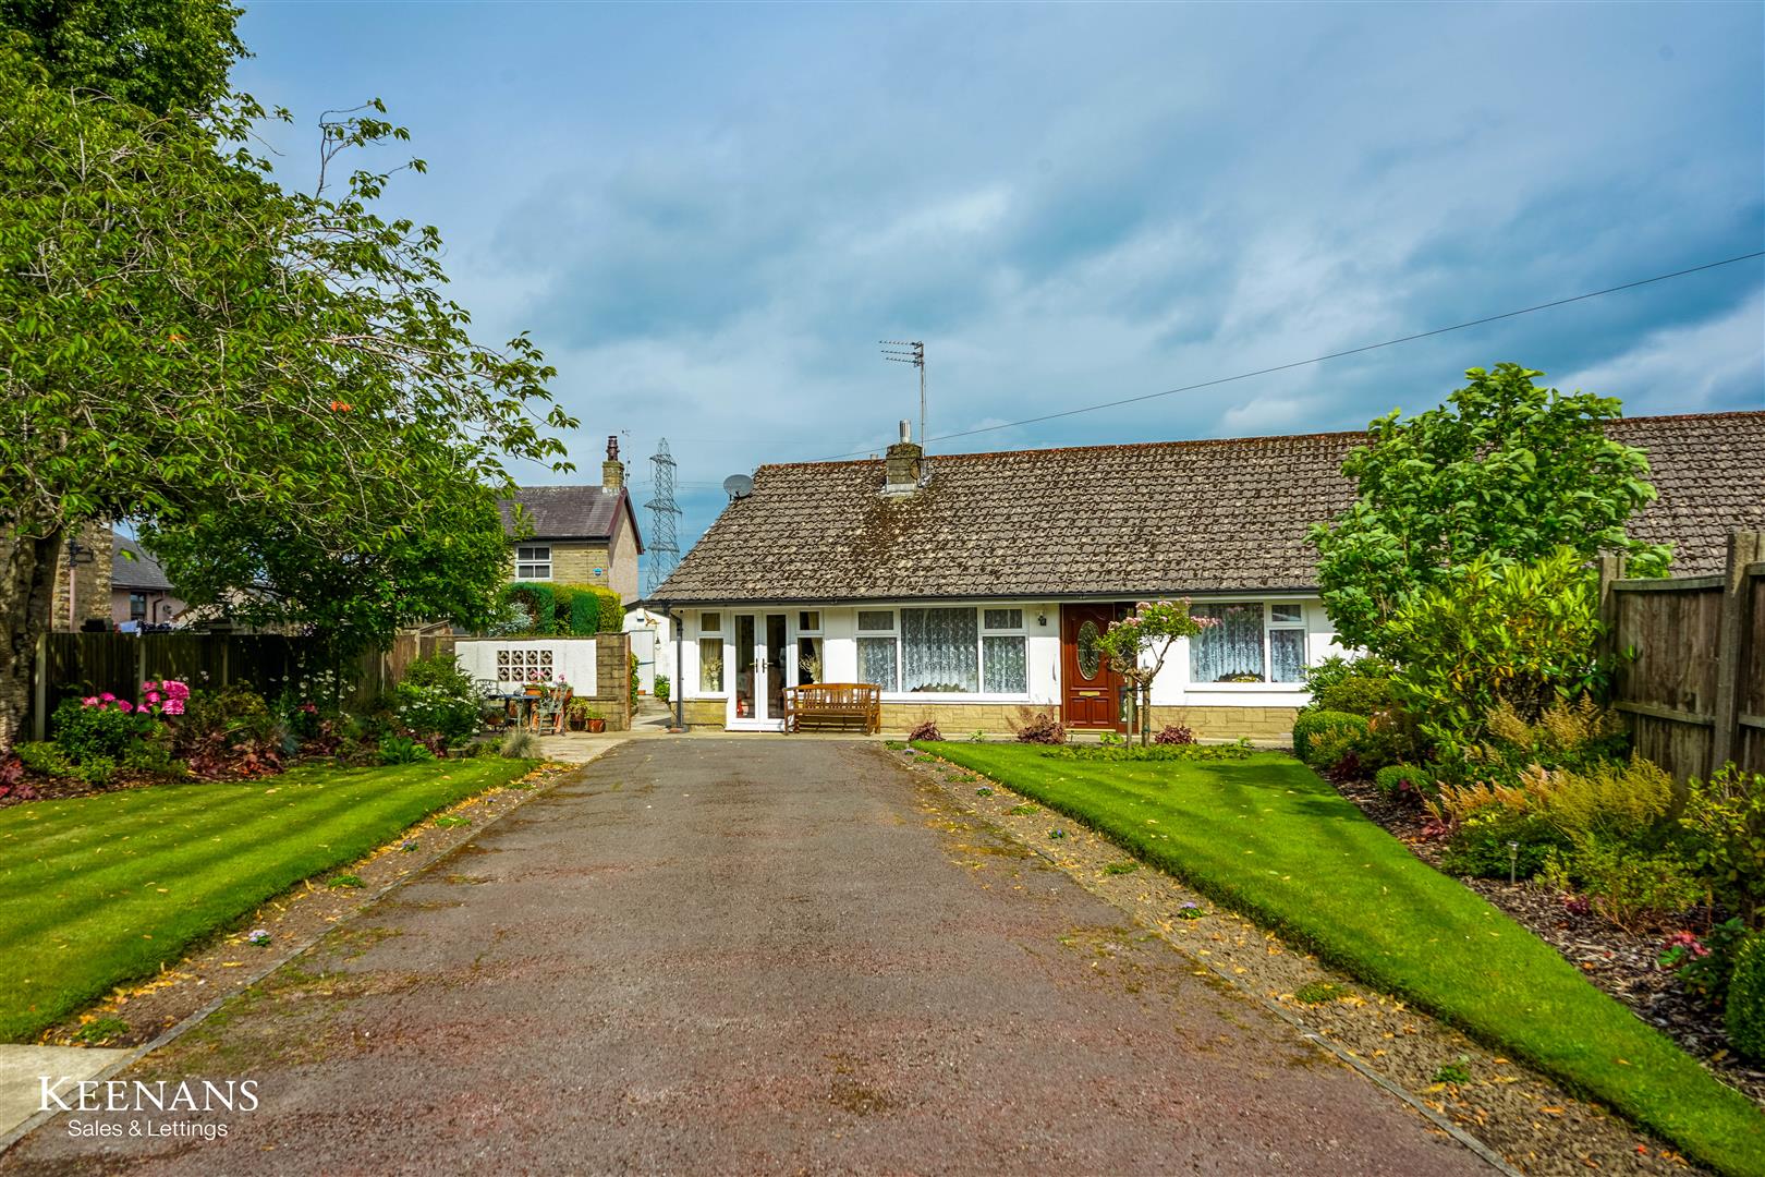
[[[625,603],[637,600],[644,542],[616,436],[607,438],[598,487],[521,487],[499,506],[512,542],[510,581],[600,584]]]

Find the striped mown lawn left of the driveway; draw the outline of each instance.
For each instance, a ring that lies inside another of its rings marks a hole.
[[[272,895],[531,768],[298,768],[0,810],[0,1041],[30,1041]]]

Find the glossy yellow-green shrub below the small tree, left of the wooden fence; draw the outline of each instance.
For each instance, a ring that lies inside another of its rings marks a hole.
[[[1461,761],[1507,702],[1523,720],[1603,681],[1594,574],[1571,549],[1507,565],[1477,558],[1407,600],[1386,625],[1391,690],[1447,761]]]

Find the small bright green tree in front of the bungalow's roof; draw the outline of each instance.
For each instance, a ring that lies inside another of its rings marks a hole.
[[[1398,609],[1479,558],[1502,565],[1567,547],[1581,558],[1627,552],[1638,575],[1666,570],[1666,547],[1624,533],[1656,492],[1641,450],[1604,432],[1617,397],[1541,388],[1543,372],[1518,364],[1465,376],[1437,409],[1371,422],[1371,445],[1341,468],[1356,503],[1311,529],[1343,644],[1387,653]]]

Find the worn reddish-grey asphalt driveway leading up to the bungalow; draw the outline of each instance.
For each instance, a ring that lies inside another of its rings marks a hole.
[[[1484,1173],[875,745],[644,739],[129,1078],[226,1136],[9,1172]]]

